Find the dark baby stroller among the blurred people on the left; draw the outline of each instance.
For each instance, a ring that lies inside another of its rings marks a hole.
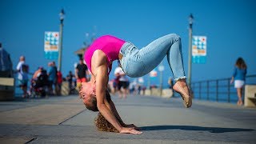
[[[42,70],[41,74],[38,76],[38,79],[31,82],[31,95],[32,97],[46,97],[46,92],[48,89],[48,75],[46,70]]]

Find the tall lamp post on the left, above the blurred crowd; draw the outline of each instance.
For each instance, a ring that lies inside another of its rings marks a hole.
[[[62,11],[59,13],[60,27],[59,27],[59,44],[58,44],[58,70],[62,71],[62,35],[63,35],[63,21],[65,17],[65,12]]]

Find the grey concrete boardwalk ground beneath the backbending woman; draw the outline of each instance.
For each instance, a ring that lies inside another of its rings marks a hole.
[[[126,123],[143,134],[99,132],[97,113],[78,96],[0,102],[0,143],[255,143],[256,110],[181,98],[112,97]]]

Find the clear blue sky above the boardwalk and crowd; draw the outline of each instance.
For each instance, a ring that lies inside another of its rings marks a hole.
[[[44,58],[44,32],[59,30],[58,14],[62,8],[66,12],[64,75],[74,70],[74,62],[78,62],[74,51],[89,41],[86,33],[95,33],[96,37],[112,34],[139,48],[162,35],[176,33],[182,37],[187,74],[190,13],[194,15],[193,35],[207,37],[206,64],[192,65],[192,82],[230,77],[238,57],[245,59],[248,74],[256,74],[254,0],[2,0],[0,42],[10,52],[14,66],[18,57],[25,55],[30,71],[38,66],[46,67],[50,60]],[[163,63],[164,78],[172,77],[166,59]],[[158,84],[158,79],[153,83]]]

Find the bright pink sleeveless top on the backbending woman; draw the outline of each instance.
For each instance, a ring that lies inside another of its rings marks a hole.
[[[104,35],[98,39],[96,39],[90,47],[86,50],[84,54],[84,59],[86,61],[86,65],[91,71],[91,58],[94,54],[95,50],[102,50],[106,54],[107,64],[109,68],[108,74],[112,70],[112,62],[118,59],[119,51],[122,45],[125,43],[122,39],[115,38],[111,35]]]

